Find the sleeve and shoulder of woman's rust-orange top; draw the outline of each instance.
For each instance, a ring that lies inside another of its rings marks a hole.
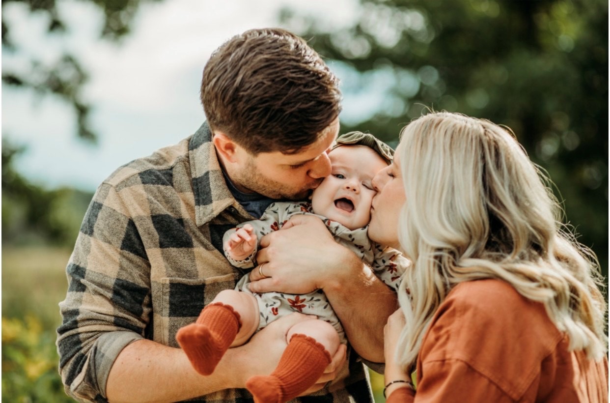
[[[405,401],[518,400],[536,377],[539,357],[550,354],[560,338],[544,307],[512,286],[498,280],[462,283],[431,321],[419,352],[417,390]]]

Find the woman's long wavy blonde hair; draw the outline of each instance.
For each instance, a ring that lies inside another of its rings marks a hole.
[[[413,266],[398,292],[406,319],[397,349],[415,365],[434,313],[463,281],[498,278],[544,303],[570,350],[606,352],[606,303],[594,253],[561,223],[550,180],[510,129],[448,112],[401,133],[406,203],[398,236]],[[408,292],[407,292],[408,291]]]

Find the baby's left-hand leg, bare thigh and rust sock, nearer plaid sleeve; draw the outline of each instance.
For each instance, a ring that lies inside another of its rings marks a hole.
[[[176,333],[193,368],[212,374],[229,346],[240,346],[259,325],[259,306],[253,296],[232,289],[221,291],[199,318]]]

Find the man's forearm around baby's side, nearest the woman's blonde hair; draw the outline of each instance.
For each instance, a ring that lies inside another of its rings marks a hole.
[[[365,360],[384,361],[383,328],[398,307],[388,288],[356,255],[345,261],[345,278],[329,281],[324,291],[351,346]]]

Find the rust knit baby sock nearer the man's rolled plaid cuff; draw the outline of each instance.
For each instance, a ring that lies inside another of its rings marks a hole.
[[[231,305],[210,303],[203,308],[195,323],[178,330],[176,340],[195,371],[209,375],[233,343],[240,327],[239,313]]]

